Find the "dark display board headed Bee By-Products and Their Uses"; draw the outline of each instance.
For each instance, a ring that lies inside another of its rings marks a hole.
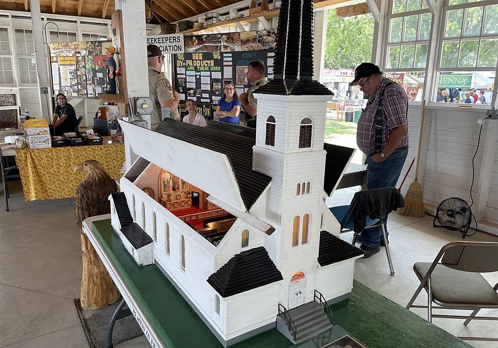
[[[193,99],[198,112],[212,119],[226,83],[233,83],[237,94],[251,87],[247,64],[254,60],[264,63],[271,79],[275,42],[275,29],[185,36],[185,53],[174,59],[180,111],[185,112],[186,99]]]

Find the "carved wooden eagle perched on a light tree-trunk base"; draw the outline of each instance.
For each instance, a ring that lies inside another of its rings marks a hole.
[[[86,173],[85,179],[76,189],[76,222],[81,228],[86,218],[111,212],[108,197],[117,191],[117,185],[104,167],[93,159],[78,164],[74,167],[74,171]],[[80,239],[83,258],[81,307],[98,309],[116,302],[120,294],[110,274],[83,232]]]

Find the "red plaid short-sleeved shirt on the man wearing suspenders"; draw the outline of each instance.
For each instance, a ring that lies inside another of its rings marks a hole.
[[[375,117],[377,114],[377,106],[382,91],[385,89],[384,98],[382,100],[382,116],[384,118],[384,127],[382,130],[382,148],[386,146],[387,140],[391,131],[399,126],[407,125],[408,127],[408,97],[401,85],[392,83],[386,87],[388,82],[392,82],[387,78],[383,78],[379,87],[375,92],[374,97],[368,99],[366,107],[361,113],[358,121],[358,129],[356,131],[356,144],[360,150],[367,156],[375,154]],[[398,145],[402,148],[408,145],[408,131],[403,137],[403,140]]]

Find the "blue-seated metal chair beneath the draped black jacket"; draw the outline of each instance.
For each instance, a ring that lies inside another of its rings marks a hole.
[[[365,190],[368,191],[368,190]],[[390,199],[390,196],[387,197],[386,199]],[[349,205],[339,205],[339,206],[333,206],[329,208],[329,210],[332,212],[332,214],[335,216],[337,221],[340,223],[340,233],[346,233],[346,232],[351,232],[354,231],[354,219],[356,215],[356,209],[357,209],[357,199],[356,197],[353,198],[351,203]],[[387,215],[386,215],[387,218]],[[386,219],[377,219],[377,220],[372,220],[368,216],[366,216],[366,226],[363,228],[363,230],[366,230],[368,228],[374,228],[374,227],[380,227],[382,230],[382,237],[385,240],[385,246],[386,246],[386,254],[387,254],[387,262],[389,263],[389,270],[391,272],[391,275],[394,275],[394,266],[392,264],[392,259],[391,259],[391,252],[389,251],[389,243],[387,242],[387,235],[386,235],[386,229],[384,228],[384,220]],[[360,232],[361,234],[361,232]],[[358,233],[355,232],[353,236],[353,242],[352,244],[356,244],[356,238],[358,237]]]

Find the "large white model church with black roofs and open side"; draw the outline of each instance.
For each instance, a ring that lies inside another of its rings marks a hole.
[[[328,330],[362,256],[325,205],[352,152],[324,144],[331,92],[312,80],[312,28],[312,0],[282,2],[255,131],[121,123],[139,158],[109,198],[112,226],[225,346],[275,326],[293,343]]]

